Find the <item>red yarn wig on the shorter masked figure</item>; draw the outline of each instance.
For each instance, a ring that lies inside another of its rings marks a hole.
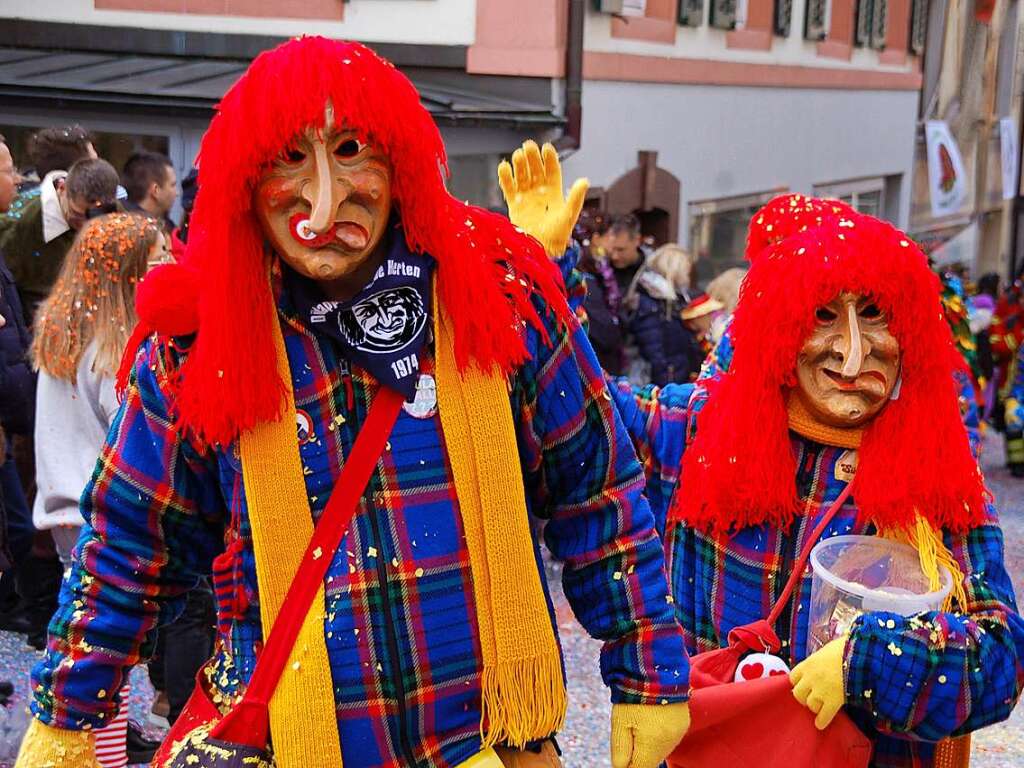
[[[769,207],[788,209],[778,202]],[[961,420],[961,364],[938,279],[909,238],[850,209],[801,223],[752,259],[730,328],[732,362],[710,382],[673,519],[724,534],[784,527],[798,514],[785,392],[815,309],[844,291],[874,299],[902,355],[898,397],[861,442],[853,481],[861,514],[886,528],[912,523],[915,511],[955,531],[983,520],[985,488]]]

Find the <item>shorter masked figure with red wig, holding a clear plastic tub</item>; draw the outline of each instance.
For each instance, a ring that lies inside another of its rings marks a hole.
[[[863,763],[819,756],[814,765],[966,765],[969,742],[949,737],[1009,716],[1024,685],[1024,621],[962,422],[963,364],[939,282],[890,224],[799,195],[755,215],[748,256],[705,378],[612,389],[664,528],[691,682],[702,675],[694,654],[741,651],[734,630],[768,618],[776,636],[746,647],[772,653],[748,656],[757,664],[740,662],[735,679],[792,668],[792,692],[818,729],[827,734],[842,712],[869,741]],[[821,646],[810,637],[802,555],[840,535],[908,545],[930,588],[948,571],[941,609],[837,613],[828,628],[838,636]],[[698,699],[692,692],[690,735],[670,766],[692,764]],[[773,727],[763,730],[760,764],[793,764]]]

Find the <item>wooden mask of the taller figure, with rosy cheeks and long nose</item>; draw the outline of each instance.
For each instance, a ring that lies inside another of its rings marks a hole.
[[[391,213],[391,165],[355,131],[309,127],[260,179],[253,201],[270,244],[331,298],[354,296],[373,276]]]

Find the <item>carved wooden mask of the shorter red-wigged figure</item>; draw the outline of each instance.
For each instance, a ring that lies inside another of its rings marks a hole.
[[[831,427],[859,427],[889,400],[900,349],[889,318],[869,297],[843,293],[815,312],[797,357],[797,394]]]

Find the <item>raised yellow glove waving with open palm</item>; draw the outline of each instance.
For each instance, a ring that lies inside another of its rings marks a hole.
[[[562,166],[555,147],[545,144],[542,157],[537,142],[527,141],[512,153],[512,165],[503,160],[498,166],[498,184],[512,223],[537,238],[552,258],[565,253],[590,182],[577,179],[563,198]]]

